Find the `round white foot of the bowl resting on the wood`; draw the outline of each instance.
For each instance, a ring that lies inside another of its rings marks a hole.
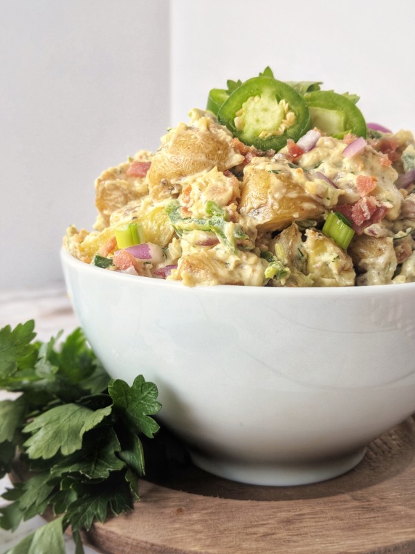
[[[353,469],[365,456],[366,447],[338,458],[328,458],[304,463],[238,463],[237,461],[208,458],[199,452],[190,451],[194,465],[209,473],[248,483],[287,487],[309,485],[338,477]]]

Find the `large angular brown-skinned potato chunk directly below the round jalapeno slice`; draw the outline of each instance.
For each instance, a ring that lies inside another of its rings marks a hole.
[[[243,173],[239,211],[257,222],[257,229],[276,231],[296,220],[313,219],[325,208],[304,189],[302,169],[299,178],[273,169],[273,163],[250,163]]]

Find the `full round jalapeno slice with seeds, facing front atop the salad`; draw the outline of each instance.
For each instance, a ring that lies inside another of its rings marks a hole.
[[[293,87],[261,75],[243,82],[221,105],[219,123],[245,144],[279,150],[310,126],[308,108]]]

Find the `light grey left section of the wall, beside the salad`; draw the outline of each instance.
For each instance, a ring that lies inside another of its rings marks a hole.
[[[169,119],[168,0],[1,0],[0,288],[62,278],[93,181]]]

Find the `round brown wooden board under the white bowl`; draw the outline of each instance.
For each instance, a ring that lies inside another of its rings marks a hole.
[[[106,554],[413,554],[414,454],[409,418],[324,483],[243,485],[190,466],[142,481],[133,512],[95,524],[84,542]]]

